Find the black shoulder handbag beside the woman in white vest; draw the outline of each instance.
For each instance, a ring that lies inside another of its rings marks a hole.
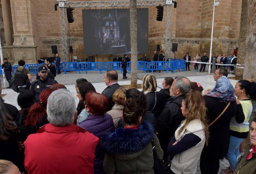
[[[160,160],[156,153],[156,147],[154,144],[154,140],[151,140],[152,150],[153,150],[153,158],[154,158],[154,172],[155,174],[168,174],[170,172],[170,163],[165,165],[162,160]]]

